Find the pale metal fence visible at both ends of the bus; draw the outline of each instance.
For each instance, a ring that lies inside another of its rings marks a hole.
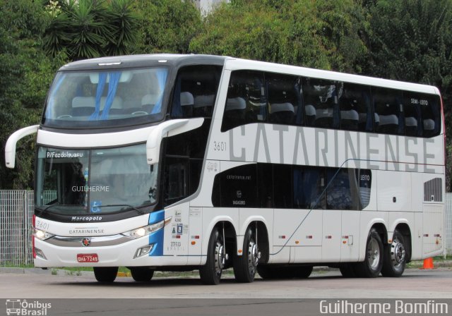
[[[54,191],[45,193],[53,200]],[[33,192],[0,190],[0,267],[32,264]],[[452,254],[452,193],[446,193],[445,251]]]

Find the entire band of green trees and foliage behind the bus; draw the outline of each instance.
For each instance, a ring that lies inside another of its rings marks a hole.
[[[452,119],[452,0],[232,0],[204,17],[182,0],[0,0],[1,145],[39,123],[66,61],[133,52],[228,55],[427,83],[439,87]],[[33,155],[32,137],[18,143],[15,170],[1,154],[0,188],[31,188]]]

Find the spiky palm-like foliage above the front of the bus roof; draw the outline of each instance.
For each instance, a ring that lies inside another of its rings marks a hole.
[[[69,59],[130,54],[138,36],[138,15],[129,0],[69,0],[47,6],[44,49]]]

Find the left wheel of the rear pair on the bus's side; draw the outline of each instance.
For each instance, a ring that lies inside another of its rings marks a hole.
[[[376,278],[383,267],[383,243],[376,230],[371,229],[367,236],[366,257],[363,262],[357,262],[354,271],[360,278]]]

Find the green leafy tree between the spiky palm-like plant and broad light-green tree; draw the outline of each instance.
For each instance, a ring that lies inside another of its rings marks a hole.
[[[201,31],[201,13],[191,1],[136,0],[141,12],[141,41],[137,51],[149,53],[189,52],[189,44]]]

